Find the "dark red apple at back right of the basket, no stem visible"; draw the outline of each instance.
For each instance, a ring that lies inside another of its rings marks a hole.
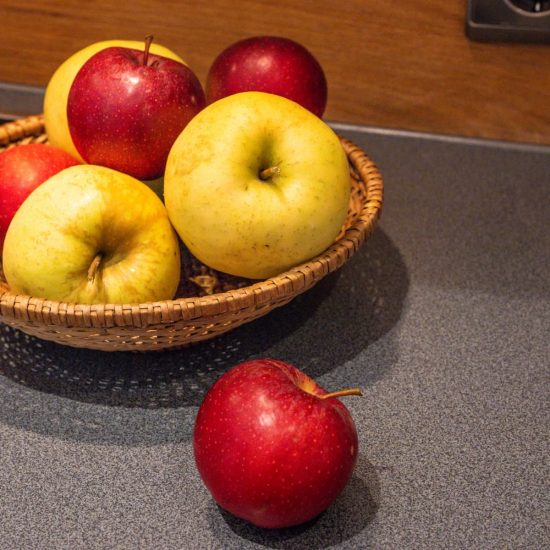
[[[301,44],[277,36],[254,36],[222,51],[210,67],[206,99],[238,92],[268,92],[292,99],[321,117],[327,81],[319,62]]]

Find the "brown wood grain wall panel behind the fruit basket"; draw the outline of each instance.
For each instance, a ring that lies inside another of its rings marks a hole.
[[[325,68],[328,120],[549,144],[550,46],[472,42],[465,13],[465,0],[1,0],[0,80],[45,85],[92,42],[153,33],[204,83],[223,48],[273,34]]]

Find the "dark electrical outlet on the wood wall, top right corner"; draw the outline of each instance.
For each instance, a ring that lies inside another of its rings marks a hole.
[[[466,35],[482,42],[550,43],[550,0],[468,0]]]

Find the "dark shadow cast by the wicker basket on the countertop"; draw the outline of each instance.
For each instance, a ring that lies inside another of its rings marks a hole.
[[[27,388],[84,403],[145,409],[198,406],[221,374],[250,358],[286,360],[315,378],[353,359],[397,323],[408,285],[398,249],[379,228],[342,269],[291,303],[181,350],[75,349],[0,324],[0,374]],[[365,373],[365,384],[394,361],[388,355]],[[3,416],[0,405],[0,421],[9,422]]]

